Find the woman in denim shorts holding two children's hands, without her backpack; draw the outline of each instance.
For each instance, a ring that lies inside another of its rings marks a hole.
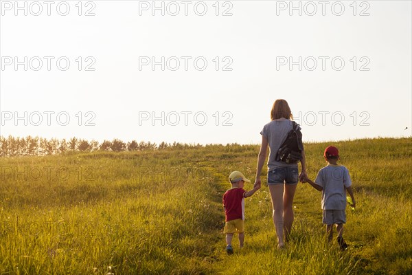
[[[260,186],[260,173],[266,151],[269,146],[270,154],[268,158],[268,186],[271,192],[273,223],[277,234],[277,248],[284,248],[284,236],[288,241],[293,223],[293,197],[298,183],[297,164],[286,164],[276,161],[276,153],[282,145],[288,132],[293,127],[292,112],[288,102],[283,99],[275,101],[271,111],[271,122],[263,127],[262,145],[258,156],[258,169],[256,171],[255,186]],[[299,128],[300,129],[300,128]],[[302,151],[301,174],[299,179],[306,176],[305,152]]]

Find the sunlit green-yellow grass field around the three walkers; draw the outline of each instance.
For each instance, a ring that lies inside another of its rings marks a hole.
[[[312,179],[327,145],[305,144]],[[412,274],[411,139],[334,145],[357,202],[346,252],[325,242],[321,193],[308,184],[276,250],[264,170],[245,199],[245,247],[225,254],[227,176],[254,179],[255,145],[3,157],[0,274]]]

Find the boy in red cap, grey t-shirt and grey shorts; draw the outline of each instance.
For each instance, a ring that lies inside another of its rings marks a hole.
[[[349,170],[336,162],[339,159],[339,151],[334,146],[328,146],[323,153],[328,166],[319,170],[316,179],[311,181],[306,177],[304,181],[319,191],[322,191],[323,224],[326,224],[328,241],[332,241],[333,225],[336,224],[338,233],[337,241],[341,250],[346,250],[347,244],[343,240],[343,223],[346,223],[346,190],[352,199],[352,207],[356,206],[352,192],[352,181]]]

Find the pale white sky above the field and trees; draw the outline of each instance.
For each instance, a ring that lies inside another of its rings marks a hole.
[[[277,98],[306,142],[412,133],[411,1],[0,4],[3,136],[258,144]]]

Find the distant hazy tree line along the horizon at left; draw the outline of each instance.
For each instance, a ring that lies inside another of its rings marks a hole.
[[[229,145],[229,144],[228,144]],[[239,144],[232,144],[238,145]],[[222,145],[220,145],[222,146]],[[76,137],[71,139],[59,140],[57,138],[47,139],[44,137],[8,137],[0,136],[0,157],[14,157],[23,155],[56,155],[73,152],[94,152],[94,151],[146,151],[146,150],[163,150],[165,148],[200,148],[201,144],[186,144],[173,142],[161,142],[160,144],[152,142],[123,142],[117,138],[114,140],[82,140]]]

